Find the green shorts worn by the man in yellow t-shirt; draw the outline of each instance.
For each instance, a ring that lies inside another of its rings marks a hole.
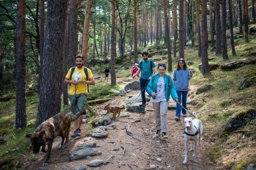
[[[87,98],[87,93],[82,93],[78,95],[69,95],[71,112],[76,114],[78,111],[84,111],[84,106]]]

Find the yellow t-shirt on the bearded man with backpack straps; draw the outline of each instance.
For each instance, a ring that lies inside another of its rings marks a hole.
[[[70,79],[70,75],[71,75],[71,69],[69,69],[68,73],[66,74],[66,78]],[[87,68],[87,72],[88,72],[88,80],[90,78],[93,77],[92,73],[91,73],[91,70],[89,68]],[[78,67],[75,67],[75,70],[74,70],[74,73],[72,74],[72,78],[71,80],[78,80],[78,78],[81,78],[83,80],[86,80],[86,75],[85,75],[85,72],[84,72],[84,67],[81,67],[81,68],[78,68]],[[76,92],[75,92],[76,90]],[[84,84],[84,83],[79,83],[78,85],[73,85],[73,84],[70,84],[70,91],[69,91],[69,94],[70,95],[74,95],[74,94],[82,94],[82,93],[87,93],[87,84]]]

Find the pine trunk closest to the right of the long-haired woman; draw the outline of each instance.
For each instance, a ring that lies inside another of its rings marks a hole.
[[[202,1],[202,73],[206,74],[210,71],[208,63],[208,31],[207,31],[207,14],[206,14],[206,1]]]

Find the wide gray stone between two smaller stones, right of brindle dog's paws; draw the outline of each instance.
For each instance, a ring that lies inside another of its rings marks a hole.
[[[70,160],[80,160],[84,159],[87,156],[95,156],[96,155],[96,149],[95,148],[85,148],[85,149],[79,149],[78,151],[74,151],[70,154]]]

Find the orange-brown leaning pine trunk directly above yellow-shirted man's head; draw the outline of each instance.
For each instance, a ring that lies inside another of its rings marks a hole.
[[[85,22],[82,40],[82,55],[84,56],[84,65],[87,66],[87,53],[89,44],[89,34],[90,34],[90,20],[91,20],[91,0],[86,0],[85,8]]]

